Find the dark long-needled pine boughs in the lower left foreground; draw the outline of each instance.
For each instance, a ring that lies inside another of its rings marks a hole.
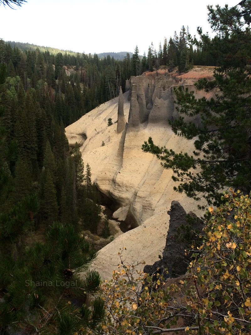
[[[46,243],[26,248],[24,255],[0,261],[0,332],[61,334],[98,331],[104,319],[103,302],[83,304],[86,294],[99,290],[100,276],[89,271],[80,277],[96,257],[85,238],[74,226],[54,223]]]

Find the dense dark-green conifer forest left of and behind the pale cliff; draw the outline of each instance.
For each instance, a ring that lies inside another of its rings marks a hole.
[[[93,313],[69,303],[99,286],[96,272],[87,278],[89,286],[77,274],[96,255],[78,232],[97,232],[100,206],[89,164],[77,146],[69,148],[65,127],[117,96],[120,86],[124,91],[131,75],[161,66],[184,72],[193,64],[221,61],[187,41],[182,26],[158,51],[151,44],[140,57],[136,46],[131,57],[116,60],[21,50],[0,40],[0,333],[14,333],[16,327],[27,334],[39,329],[70,334],[80,324],[94,329],[102,319],[100,302]],[[34,231],[43,233],[28,243]],[[76,280],[75,290],[67,286],[69,280]]]

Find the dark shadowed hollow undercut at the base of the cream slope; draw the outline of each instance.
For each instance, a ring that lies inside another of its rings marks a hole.
[[[97,187],[96,187],[96,190],[99,194],[100,204],[106,207],[104,214],[107,215],[108,219],[117,221],[119,223],[119,228],[121,229],[122,232],[127,232],[139,226],[136,218],[134,217],[134,215],[131,213],[130,210],[127,214],[126,220],[120,221],[120,220],[113,219],[112,214],[119,207],[121,207],[120,203],[116,199],[114,199],[111,194],[109,194],[108,196],[102,193]]]

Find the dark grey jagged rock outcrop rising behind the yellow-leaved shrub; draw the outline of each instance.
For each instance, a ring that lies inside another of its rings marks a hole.
[[[173,278],[185,274],[191,258],[185,256],[184,250],[189,248],[189,244],[191,244],[192,241],[182,239],[177,234],[182,230],[180,228],[189,227],[187,214],[180,203],[175,200],[172,201],[171,208],[167,213],[170,215],[170,221],[163,257],[153,265],[146,265],[144,267],[144,272],[153,275],[158,272],[163,273],[167,268],[168,274],[166,274],[166,278]],[[203,221],[194,213],[189,212],[188,214],[192,219],[192,226],[189,228],[190,231],[187,231],[187,235],[189,236],[189,233],[192,232],[192,230],[201,233],[204,226]]]

